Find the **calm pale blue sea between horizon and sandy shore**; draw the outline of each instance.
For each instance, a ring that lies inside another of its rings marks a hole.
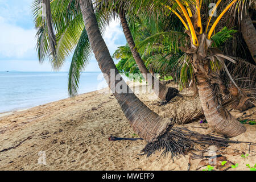
[[[106,86],[100,72],[84,72],[79,94]],[[0,72],[0,113],[68,97],[68,72]]]

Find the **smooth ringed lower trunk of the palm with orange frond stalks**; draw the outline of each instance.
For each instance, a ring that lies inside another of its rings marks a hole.
[[[201,106],[209,126],[217,133],[228,137],[235,137],[245,132],[246,127],[218,104],[205,76],[196,76],[196,81]]]

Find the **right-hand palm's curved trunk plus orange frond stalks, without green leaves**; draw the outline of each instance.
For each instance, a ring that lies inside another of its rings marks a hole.
[[[199,97],[201,106],[204,110],[205,118],[207,119],[209,126],[212,127],[215,131],[224,135],[228,135],[229,137],[240,135],[241,133],[245,132],[246,128],[245,126],[241,125],[241,123],[238,122],[230,113],[228,113],[227,110],[222,108],[220,103],[216,100],[215,93],[210,84],[210,75],[213,73],[213,69],[210,68],[210,64],[214,65],[213,57],[216,57],[217,60],[220,61],[220,63],[223,65],[223,67],[226,68],[224,58],[231,61],[232,59],[222,55],[220,51],[217,51],[216,49],[211,49],[210,39],[212,38],[212,33],[219,20],[236,1],[237,0],[230,2],[228,6],[225,7],[225,9],[213,23],[212,27],[210,27],[208,32],[209,22],[212,18],[214,10],[212,10],[212,14],[209,17],[208,24],[204,30],[201,22],[199,0],[197,0],[194,5],[189,5],[188,7],[188,9],[194,8],[196,10],[195,15],[197,16],[197,19],[193,23],[187,14],[187,11],[184,9],[183,3],[181,3],[179,0],[176,0],[183,15],[185,16],[185,20],[187,20],[187,28],[189,32],[188,34],[191,35],[191,62],[194,67],[193,72],[195,75],[195,84],[199,91]]]

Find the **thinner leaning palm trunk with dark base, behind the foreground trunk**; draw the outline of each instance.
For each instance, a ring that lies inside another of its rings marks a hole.
[[[154,89],[154,91],[161,100],[170,101],[172,98],[177,96],[177,93],[179,93],[179,91],[175,88],[171,88],[171,87],[161,84],[161,82],[157,78],[155,78],[154,76],[151,75],[150,72],[148,72],[144,62],[141,59],[141,56],[139,55],[137,49],[135,48],[134,39],[133,39],[133,36],[131,35],[131,31],[130,31],[130,28],[128,26],[128,23],[127,23],[127,20],[125,17],[125,13],[123,11],[119,11],[119,16],[121,19],[123,32],[125,34],[127,43],[129,44],[129,47],[131,49],[131,52],[133,53],[134,60],[139,67],[139,71],[141,71],[141,73],[144,76],[146,76],[147,81],[152,80],[152,81],[148,82],[148,84],[151,84],[150,86],[152,89],[154,89],[155,81],[158,82],[159,90]]]

